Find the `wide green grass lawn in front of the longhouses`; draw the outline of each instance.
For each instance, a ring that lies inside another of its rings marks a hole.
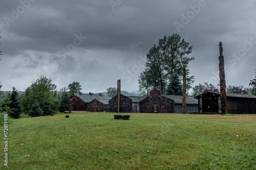
[[[256,169],[256,115],[114,114],[12,119],[8,168]]]

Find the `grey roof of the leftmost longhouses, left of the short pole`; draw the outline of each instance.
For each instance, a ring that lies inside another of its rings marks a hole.
[[[80,98],[84,103],[90,103],[94,99],[98,100],[103,104],[109,104],[109,100],[111,99],[108,95],[99,95],[99,94],[84,94],[84,93],[74,93],[78,98]],[[73,94],[73,95],[74,95]],[[108,102],[106,102],[108,101]]]

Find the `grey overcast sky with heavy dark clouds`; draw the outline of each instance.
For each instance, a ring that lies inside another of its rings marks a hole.
[[[24,91],[40,75],[59,90],[116,87],[138,91],[145,55],[163,36],[193,45],[193,86],[219,84],[219,42],[226,84],[248,87],[256,69],[256,1],[20,0],[0,3],[1,90]]]

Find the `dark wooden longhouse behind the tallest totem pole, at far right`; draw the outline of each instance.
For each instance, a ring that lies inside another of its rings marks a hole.
[[[227,93],[227,113],[256,114],[256,96],[252,94]],[[199,112],[221,113],[219,92],[205,92],[195,97],[198,100]]]

